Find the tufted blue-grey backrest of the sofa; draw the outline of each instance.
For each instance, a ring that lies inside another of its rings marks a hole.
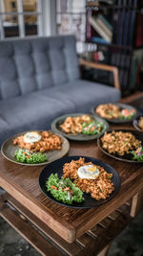
[[[78,78],[73,35],[0,41],[0,100]]]

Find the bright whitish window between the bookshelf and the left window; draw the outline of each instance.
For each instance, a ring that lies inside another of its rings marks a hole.
[[[84,51],[86,30],[86,0],[56,0],[56,30],[58,35],[74,34],[77,52]]]

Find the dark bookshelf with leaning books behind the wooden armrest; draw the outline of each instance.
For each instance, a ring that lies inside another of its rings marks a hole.
[[[118,67],[123,95],[133,92],[136,81],[138,86],[141,83],[134,52],[143,50],[143,1],[87,0],[86,44],[88,43],[96,44],[96,52],[91,55],[93,61]],[[143,55],[143,51],[141,54]],[[100,78],[112,84],[111,75],[99,74],[98,77],[96,74],[95,80],[100,81]]]

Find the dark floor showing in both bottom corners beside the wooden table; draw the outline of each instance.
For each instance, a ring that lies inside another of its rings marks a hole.
[[[0,256],[23,255],[40,254],[0,218]],[[108,256],[143,256],[143,212],[116,237]]]

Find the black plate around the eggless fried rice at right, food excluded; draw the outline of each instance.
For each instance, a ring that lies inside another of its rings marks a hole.
[[[142,146],[143,146],[143,134],[141,132],[137,132],[133,129],[114,129],[114,131],[131,132],[137,140],[142,141]],[[112,132],[112,130],[107,131],[107,133],[110,133],[110,132]],[[103,151],[107,155],[111,156],[112,158],[120,160],[120,161],[129,162],[129,163],[143,163],[143,161],[133,160],[133,154],[132,153],[126,153],[125,155],[118,155],[117,153],[110,153],[108,151],[105,151],[102,148],[102,141],[101,141],[101,138],[103,136],[104,136],[104,134],[102,136],[100,136],[100,138],[98,138],[98,140],[97,140],[97,145],[98,145],[98,147],[100,148],[101,151]]]

